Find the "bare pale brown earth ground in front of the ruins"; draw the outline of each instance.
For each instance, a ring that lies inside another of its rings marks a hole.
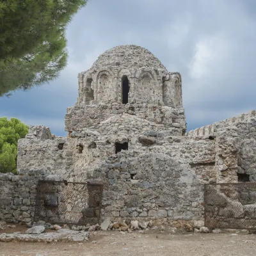
[[[85,243],[0,243],[0,256],[256,255],[256,235],[97,232]]]

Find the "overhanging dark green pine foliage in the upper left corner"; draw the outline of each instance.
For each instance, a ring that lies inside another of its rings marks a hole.
[[[0,96],[50,81],[67,64],[65,29],[86,0],[0,1]]]

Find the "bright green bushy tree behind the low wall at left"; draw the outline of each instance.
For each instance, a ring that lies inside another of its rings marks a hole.
[[[0,172],[16,172],[17,143],[25,138],[28,125],[17,118],[0,118]]]

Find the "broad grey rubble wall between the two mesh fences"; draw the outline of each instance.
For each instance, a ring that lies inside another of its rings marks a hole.
[[[89,180],[104,183],[102,216],[119,221],[202,220],[203,184],[216,182],[214,143],[183,138],[164,147],[122,151],[88,173]]]

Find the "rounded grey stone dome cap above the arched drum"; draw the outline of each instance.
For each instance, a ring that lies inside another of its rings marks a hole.
[[[92,68],[101,69],[110,66],[115,69],[152,67],[166,70],[154,54],[137,45],[119,45],[109,49],[99,56]]]

